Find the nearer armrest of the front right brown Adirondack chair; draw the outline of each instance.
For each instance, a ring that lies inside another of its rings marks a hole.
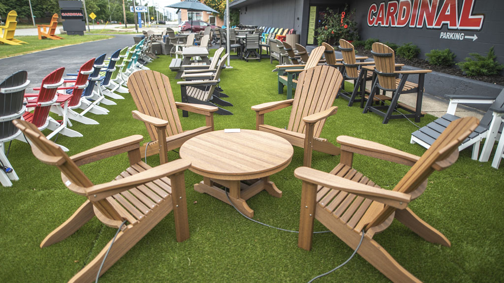
[[[406,208],[411,201],[411,195],[406,193],[375,188],[308,167],[297,168],[294,176],[305,182],[342,190],[399,209]]]

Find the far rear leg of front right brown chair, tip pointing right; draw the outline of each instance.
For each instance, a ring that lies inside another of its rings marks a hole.
[[[450,241],[441,232],[419,218],[409,207],[397,209],[395,217],[425,241],[450,247]]]

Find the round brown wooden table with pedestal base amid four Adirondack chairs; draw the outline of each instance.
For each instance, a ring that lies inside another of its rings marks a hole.
[[[270,176],[287,167],[293,153],[292,145],[284,138],[245,129],[200,134],[187,140],[179,152],[182,159],[191,161],[189,170],[203,176],[203,181],[194,185],[196,191],[231,204],[220,188],[227,187],[234,206],[250,218],[254,217],[254,210],[245,202],[247,199],[262,190],[282,196]],[[251,181],[247,185],[240,182],[243,180]]]

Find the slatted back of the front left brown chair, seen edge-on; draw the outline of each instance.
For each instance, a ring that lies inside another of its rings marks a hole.
[[[61,171],[62,179],[67,187],[80,195],[86,195],[86,188],[93,186],[89,178],[81,171],[77,164],[56,144],[48,140],[42,132],[33,124],[22,120],[15,120],[14,124],[21,129],[25,136],[31,142],[31,150],[33,155],[42,163],[54,165]],[[121,215],[110,201],[112,197],[102,200],[93,201],[95,209],[99,211],[96,217],[109,226],[119,226],[124,220],[124,215]],[[112,224],[112,225],[110,225]],[[115,224],[115,225],[114,225]]]

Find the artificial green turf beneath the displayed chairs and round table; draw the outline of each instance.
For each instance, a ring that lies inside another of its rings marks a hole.
[[[161,56],[150,63],[170,78],[174,97],[180,101],[180,88],[175,73],[168,65],[171,58]],[[232,116],[215,116],[215,128],[255,128],[255,112],[250,106],[285,99],[277,93],[274,64],[231,60],[232,69],[221,75],[221,87],[234,104],[225,107]],[[59,135],[57,143],[77,154],[91,147],[120,137],[148,134],[142,122],[131,116],[136,109],[131,97],[106,106],[109,115],[89,117],[99,125],[74,123],[73,128],[84,137]],[[382,117],[362,114],[358,106],[348,107],[337,99],[336,115],[330,117],[322,137],[336,143],[338,135],[351,135],[421,155],[425,150],[409,143],[416,127],[404,119],[382,124]],[[290,109],[266,114],[266,122],[279,127],[287,125]],[[432,121],[422,118],[420,125]],[[182,118],[184,129],[205,123],[204,117],[190,114]],[[8,145],[7,145],[8,146]],[[443,172],[434,172],[426,191],[409,205],[427,223],[444,233],[452,247],[431,244],[401,223],[393,224],[374,239],[403,267],[425,282],[496,282],[504,278],[502,216],[504,194],[501,166],[470,159],[470,150],[460,154],[459,161]],[[281,198],[266,192],[250,198],[255,219],[273,226],[297,230],[301,182],[293,175],[302,165],[303,152],[294,149],[290,166],[271,177],[283,191]],[[170,160],[178,158],[174,152]],[[102,225],[96,218],[68,239],[40,249],[44,237],[64,222],[85,198],[62,184],[58,170],[41,164],[27,144],[15,140],[9,160],[20,180],[13,187],[0,187],[0,281],[57,282],[69,280],[93,259],[113,237],[115,229]],[[158,156],[147,159],[151,166],[159,164]],[[339,157],[313,153],[313,167],[330,171]],[[112,180],[128,166],[125,155],[83,166],[94,183]],[[384,188],[393,188],[408,167],[356,155],[354,167]],[[331,233],[313,236],[313,248],[307,252],[297,247],[297,234],[273,230],[243,218],[228,204],[195,192],[193,185],[202,180],[185,172],[191,238],[175,241],[173,214],[169,214],[127,254],[116,262],[100,282],[306,282],[345,261],[352,250]],[[326,230],[316,222],[316,231]],[[379,281],[388,279],[356,255],[347,265],[319,279],[320,282]]]

